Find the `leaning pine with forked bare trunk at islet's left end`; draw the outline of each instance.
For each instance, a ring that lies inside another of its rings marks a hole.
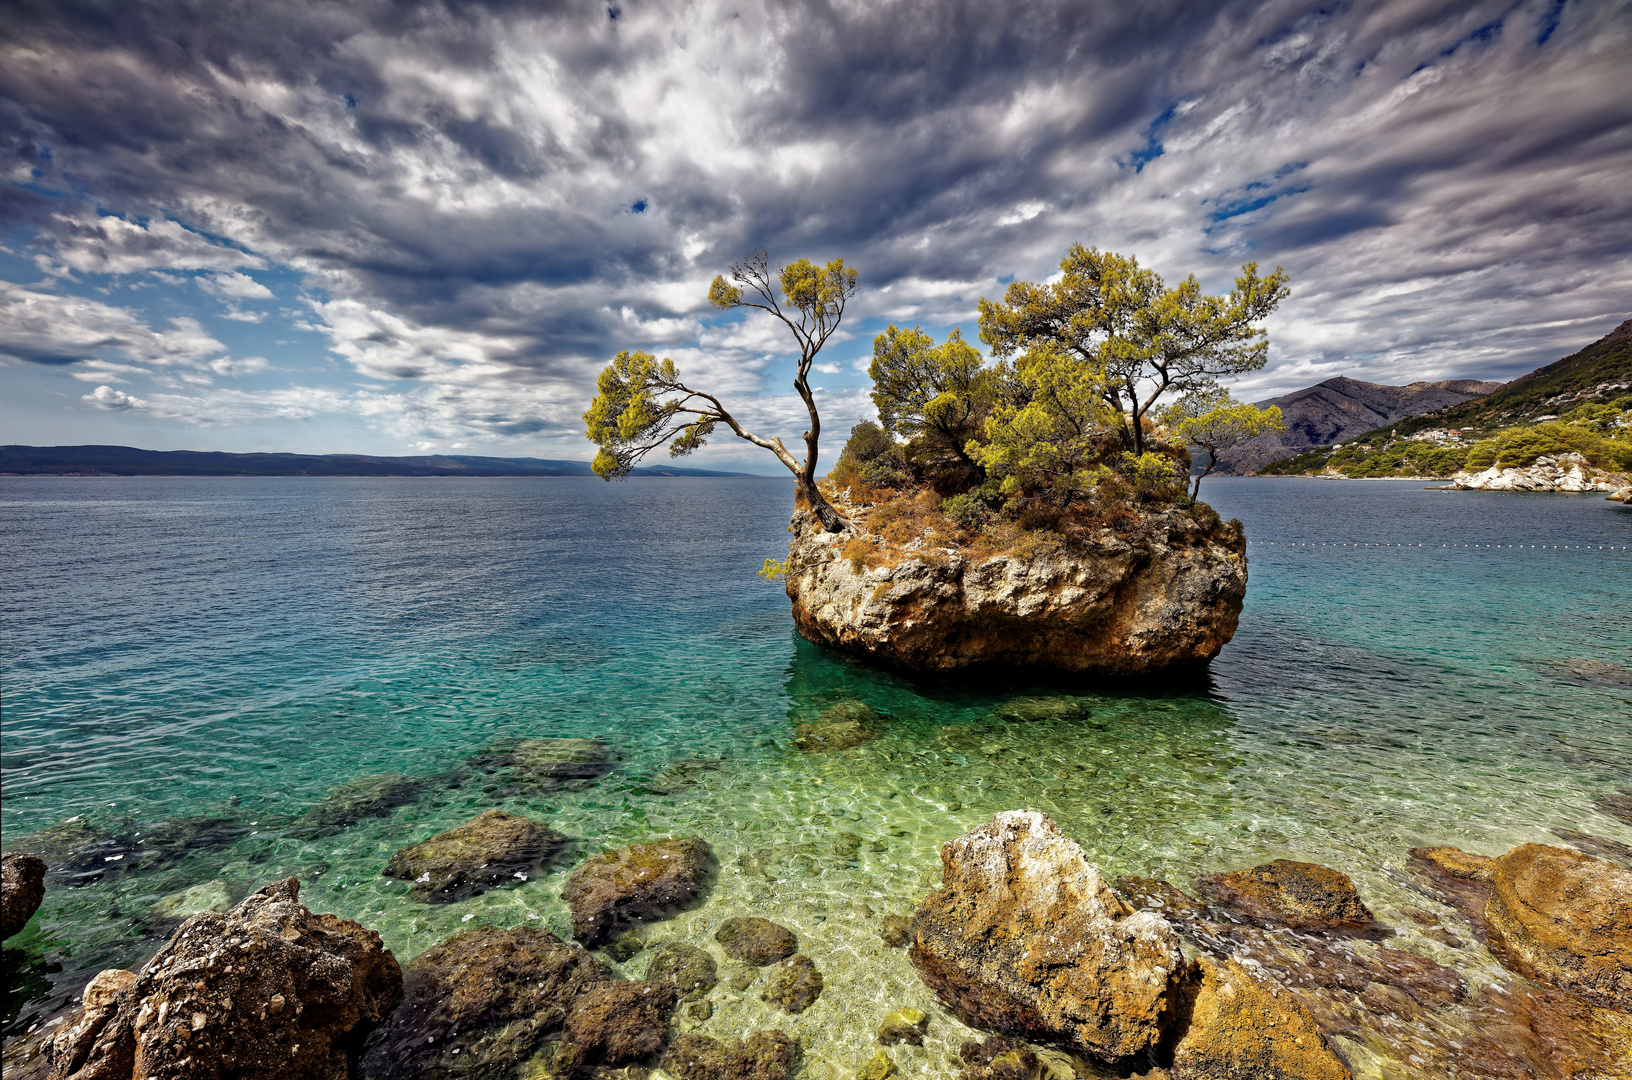
[[[772,282],[775,279],[775,284]],[[775,285],[782,285],[785,303],[777,302]],[[809,259],[790,263],[775,271],[764,251],[756,251],[731,266],[708,287],[708,302],[718,308],[739,307],[769,312],[793,333],[800,361],[793,390],[805,401],[809,427],[805,431],[805,457],[795,457],[782,439],[764,439],[747,431],[707,390],[681,382],[674,361],[650,352],[619,352],[596,382],[596,398],[584,413],[584,434],[601,447],[592,468],[602,480],[623,480],[646,454],[667,444],[669,457],[682,457],[707,442],[716,424],[725,424],[738,439],[746,439],[777,455],[788,467],[800,494],[809,502],[827,532],[849,527],[816,488],[816,444],[821,439],[821,416],[811,396],[809,370],[816,354],[827,344],[844,318],[845,302],[855,295],[855,271],[834,259],[816,266]]]

